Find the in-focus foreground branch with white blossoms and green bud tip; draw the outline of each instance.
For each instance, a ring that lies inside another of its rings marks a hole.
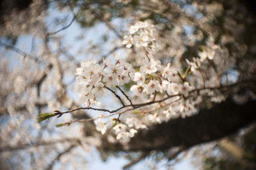
[[[117,135],[117,140],[122,138],[123,141],[127,142],[129,137],[133,137],[134,133],[137,133],[138,129],[146,129],[149,125],[161,124],[171,118],[179,116],[185,118],[197,113],[197,106],[202,102],[203,96],[209,96],[211,101],[220,103],[226,98],[220,90],[255,82],[254,79],[248,79],[231,84],[222,84],[221,75],[223,73],[219,71],[222,68],[217,68],[218,64],[213,61],[215,50],[221,47],[213,44],[211,39],[209,39],[209,49],[199,51],[198,56],[200,58],[194,57],[193,61],[186,59],[188,65],[184,68],[184,65],[179,64],[163,64],[154,57],[159,42],[157,41],[157,31],[153,25],[147,21],[139,21],[128,30],[130,35],[124,36],[122,44],[127,48],[134,46],[144,52],[144,56],[137,59],[142,61],[140,68],[135,70],[132,64],[120,58],[120,53],[115,54],[115,63],[111,63],[109,58],[104,58],[103,66],[96,64],[96,61],[81,62],[81,67],[76,69],[76,75],[78,75],[76,80],[83,85],[79,97],[83,99],[86,107],[65,112],[55,110],[53,113],[40,113],[39,122],[80,109],[108,112],[110,113],[108,115],[99,113],[99,116],[94,118],[71,120],[56,126],[69,126],[75,122],[98,119],[95,121],[96,129],[105,134],[107,130],[105,124],[108,122],[102,123],[102,118],[118,115],[118,118],[111,120],[114,122],[113,130]],[[213,73],[206,74],[204,65],[207,64],[213,67]],[[216,81],[211,82],[216,79],[219,80],[219,84]],[[129,82],[135,84],[130,87],[130,91],[134,94],[134,101],[121,88]],[[112,88],[119,89],[130,104],[125,104]],[[105,97],[107,90],[116,96],[122,106],[115,110],[91,107],[91,105],[101,105],[98,99]],[[146,107],[151,107],[151,109],[148,110]],[[137,114],[131,118],[126,118],[125,123],[123,123],[119,118],[124,113]]]

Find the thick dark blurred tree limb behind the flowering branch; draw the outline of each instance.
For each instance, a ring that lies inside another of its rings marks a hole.
[[[177,118],[141,130],[127,144],[129,151],[164,151],[172,147],[184,149],[236,133],[256,120],[256,101],[237,105],[230,98],[194,116]],[[106,140],[105,140],[106,141]],[[120,143],[103,142],[105,150],[123,150]]]

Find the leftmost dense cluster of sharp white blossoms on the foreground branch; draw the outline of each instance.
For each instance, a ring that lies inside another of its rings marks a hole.
[[[135,70],[132,65],[120,59],[120,53],[115,55],[116,63],[110,63],[110,59],[103,59],[104,67],[102,68],[95,61],[81,62],[81,67],[76,69],[76,80],[79,84],[85,84],[86,88],[82,93],[79,93],[80,98],[84,99],[87,107],[91,104],[100,106],[100,103],[95,100],[96,96],[102,98],[106,95],[106,87],[112,85],[122,86],[124,83],[134,79]]]

